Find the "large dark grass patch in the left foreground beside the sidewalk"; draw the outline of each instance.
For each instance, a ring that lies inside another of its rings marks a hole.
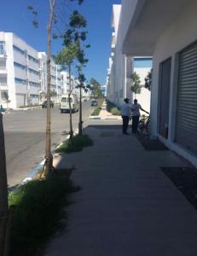
[[[10,255],[40,255],[39,248],[65,228],[63,207],[68,194],[76,191],[68,177],[34,180],[9,193],[9,205],[14,205],[11,227]],[[64,216],[65,217],[65,216]]]

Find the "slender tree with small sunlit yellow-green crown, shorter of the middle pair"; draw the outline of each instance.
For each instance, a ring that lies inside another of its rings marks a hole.
[[[73,129],[72,129],[72,107],[71,107],[71,94],[72,94],[72,83],[71,83],[71,71],[72,71],[72,63],[76,59],[76,55],[78,52],[78,46],[76,43],[70,42],[65,46],[56,56],[55,63],[59,65],[64,65],[67,67],[69,73],[69,92],[68,92],[68,101],[69,101],[69,113],[70,113],[70,140],[73,137]]]

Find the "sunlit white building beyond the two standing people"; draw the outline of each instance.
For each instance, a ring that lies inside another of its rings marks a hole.
[[[135,55],[125,55],[122,53],[122,34],[125,30],[123,23],[124,17],[120,4],[113,5],[112,26],[114,32],[112,34],[112,55],[109,59],[109,68],[107,70],[107,99],[114,102],[118,106],[124,101],[125,97],[133,100],[133,93],[130,90],[130,75],[133,72],[139,74],[141,85],[145,84],[144,78],[147,76],[152,65],[147,67],[146,61],[150,58],[136,58]],[[138,67],[136,63],[140,63]],[[144,66],[142,65],[144,63]],[[152,64],[152,63],[151,63]],[[146,88],[142,88],[142,93],[136,95],[138,101],[142,104],[142,108],[149,111],[150,108],[150,92]]]

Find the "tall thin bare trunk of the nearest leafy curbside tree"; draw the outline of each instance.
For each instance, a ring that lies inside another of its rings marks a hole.
[[[53,3],[49,1],[50,4],[50,15],[49,15],[49,24],[47,28],[47,36],[48,36],[48,51],[47,51],[47,125],[46,125],[46,148],[45,148],[45,159],[46,159],[46,166],[44,170],[44,175],[47,177],[49,172],[53,166],[53,155],[51,154],[50,147],[51,147],[51,134],[50,134],[50,44],[51,44],[51,28],[54,18],[54,10],[55,10],[55,0]]]

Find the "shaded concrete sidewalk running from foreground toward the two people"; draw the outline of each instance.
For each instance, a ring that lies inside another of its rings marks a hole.
[[[75,164],[67,232],[47,247],[47,256],[194,256],[197,212],[161,172],[188,166],[170,150],[145,151],[120,121],[91,120],[85,131],[95,145],[65,154],[60,167]]]

